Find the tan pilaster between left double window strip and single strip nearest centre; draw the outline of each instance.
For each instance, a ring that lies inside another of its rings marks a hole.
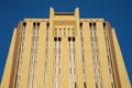
[[[44,88],[46,22],[40,22],[36,88]]]

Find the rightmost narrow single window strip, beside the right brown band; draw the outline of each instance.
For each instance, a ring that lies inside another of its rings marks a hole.
[[[112,64],[111,64],[111,58],[110,58],[110,53],[109,53],[109,40],[108,40],[108,33],[106,29],[106,23],[103,23],[103,33],[105,33],[105,42],[106,42],[106,51],[107,51],[107,57],[108,57],[108,67],[109,67],[109,74],[110,74],[110,80],[111,80],[111,87],[114,87],[114,80],[113,80],[113,73],[112,73]]]

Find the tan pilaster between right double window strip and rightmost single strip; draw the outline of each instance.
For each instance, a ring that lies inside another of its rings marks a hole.
[[[97,34],[98,34],[98,44],[99,44],[99,59],[101,66],[102,86],[103,88],[111,88],[107,53],[106,53],[103,26],[102,26],[102,22],[96,22],[96,24],[97,24]]]

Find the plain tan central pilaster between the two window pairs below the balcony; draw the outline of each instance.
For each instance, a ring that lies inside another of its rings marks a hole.
[[[62,37],[62,88],[69,88],[68,38]]]

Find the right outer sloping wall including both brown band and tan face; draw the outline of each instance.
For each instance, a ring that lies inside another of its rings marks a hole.
[[[111,52],[114,53],[113,55],[113,69],[114,69],[114,76],[117,80],[117,87],[118,88],[131,88],[129,77],[127,74],[127,69],[124,66],[124,62],[122,58],[121,50],[116,36],[114,29],[109,29],[110,31],[110,38],[111,38]],[[114,51],[114,52],[113,52]],[[125,81],[125,84],[124,84]]]

